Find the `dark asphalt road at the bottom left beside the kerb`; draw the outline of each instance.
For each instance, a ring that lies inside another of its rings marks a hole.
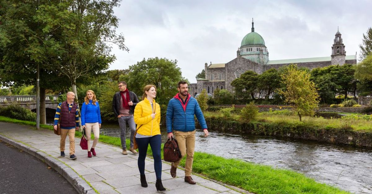
[[[0,193],[77,194],[77,191],[44,162],[0,141]]]

